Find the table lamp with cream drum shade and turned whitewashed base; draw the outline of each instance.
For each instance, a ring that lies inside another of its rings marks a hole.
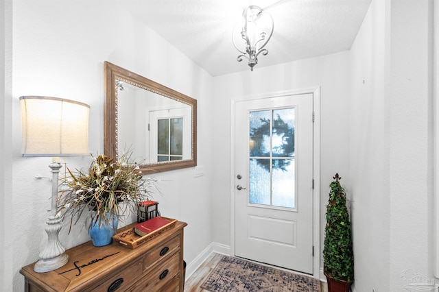
[[[90,106],[58,97],[20,97],[23,157],[54,157],[52,173],[51,215],[45,228],[47,245],[40,252],[34,270],[53,271],[67,263],[69,256],[58,240],[62,219],[58,214],[58,173],[60,156],[85,156],[88,151],[88,112]]]

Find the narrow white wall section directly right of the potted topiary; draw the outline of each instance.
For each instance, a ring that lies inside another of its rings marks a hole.
[[[350,51],[350,171],[357,291],[391,291],[386,27],[388,1],[372,1]]]

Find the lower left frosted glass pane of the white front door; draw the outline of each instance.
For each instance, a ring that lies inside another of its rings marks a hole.
[[[250,174],[250,204],[270,205],[270,159],[250,159]]]

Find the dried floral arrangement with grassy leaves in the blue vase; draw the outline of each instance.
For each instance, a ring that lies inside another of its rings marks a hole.
[[[99,225],[118,220],[130,212],[138,213],[138,203],[152,198],[156,190],[156,180],[143,177],[139,166],[123,154],[118,160],[105,155],[93,157],[88,171],[71,171],[67,191],[58,197],[58,212],[63,211],[63,219],[70,215],[71,226],[78,222],[83,212],[95,211]],[[70,232],[69,230],[69,232]]]

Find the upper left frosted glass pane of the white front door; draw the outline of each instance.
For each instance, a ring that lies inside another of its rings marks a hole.
[[[270,156],[270,110],[250,112],[250,157]]]

